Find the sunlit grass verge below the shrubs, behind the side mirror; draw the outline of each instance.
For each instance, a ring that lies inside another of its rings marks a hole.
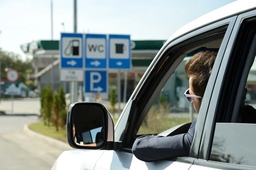
[[[1,114],[1,113],[0,113]],[[114,125],[116,125],[118,119],[114,118],[113,122]],[[63,142],[67,142],[67,130],[59,128],[59,131],[56,131],[56,128],[54,126],[45,126],[44,122],[37,122],[29,125],[29,129],[41,133],[45,136],[49,136],[58,140],[61,140]]]

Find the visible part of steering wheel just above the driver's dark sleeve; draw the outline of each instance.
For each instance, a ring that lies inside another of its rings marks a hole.
[[[191,124],[192,124],[192,122],[177,125],[175,127],[172,127],[170,129],[167,129],[167,130],[157,134],[157,136],[174,136],[174,135],[178,135],[178,134],[182,134],[182,133],[187,133],[189,131],[189,127]]]

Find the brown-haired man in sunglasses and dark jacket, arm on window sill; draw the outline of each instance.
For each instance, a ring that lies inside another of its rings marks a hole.
[[[217,53],[215,52],[201,51],[185,63],[185,72],[189,77],[189,89],[184,94],[188,102],[193,102],[197,113],[199,113],[216,56]],[[167,137],[140,136],[135,140],[132,147],[134,156],[146,162],[188,156],[195,132],[196,120],[192,122],[188,133]]]

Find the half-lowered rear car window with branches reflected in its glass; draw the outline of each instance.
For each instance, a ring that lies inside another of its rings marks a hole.
[[[256,58],[255,58],[256,59]],[[246,92],[247,91],[247,92]],[[211,161],[256,166],[256,60],[247,77],[244,109],[236,123],[216,123]]]

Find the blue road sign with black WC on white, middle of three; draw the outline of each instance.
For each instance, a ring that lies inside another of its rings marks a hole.
[[[107,35],[85,34],[85,68],[107,68]]]

